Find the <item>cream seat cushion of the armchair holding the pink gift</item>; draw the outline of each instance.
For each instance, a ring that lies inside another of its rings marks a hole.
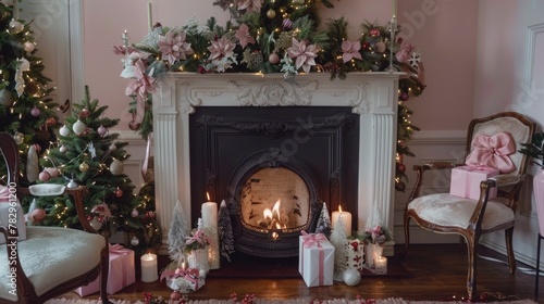
[[[483,230],[514,221],[514,211],[506,206],[504,201],[506,199],[503,198],[487,201],[482,220]],[[478,200],[436,193],[415,199],[408,204],[408,210],[413,210],[421,219],[429,223],[466,229],[477,204]]]

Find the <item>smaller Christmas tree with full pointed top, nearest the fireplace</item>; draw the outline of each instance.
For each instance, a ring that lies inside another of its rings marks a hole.
[[[131,248],[149,249],[161,242],[154,206],[150,197],[133,194],[135,186],[123,173],[123,162],[129,157],[124,150],[127,143],[116,141],[119,135],[109,131],[119,119],[106,117],[107,109],[90,100],[86,87],[85,99],[74,104],[59,129],[59,141],[41,159],[39,179],[69,188],[86,186],[85,210],[91,226],[106,237],[125,231]],[[81,228],[70,199],[42,198],[38,205],[48,211],[41,225]]]

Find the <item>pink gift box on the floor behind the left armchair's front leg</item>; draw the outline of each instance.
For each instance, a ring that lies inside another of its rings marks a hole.
[[[114,294],[125,287],[136,282],[134,269],[134,251],[120,244],[110,244],[110,269],[108,274],[108,286],[106,290],[109,294]],[[100,277],[87,286],[82,286],[74,291],[81,296],[95,293],[100,290]]]

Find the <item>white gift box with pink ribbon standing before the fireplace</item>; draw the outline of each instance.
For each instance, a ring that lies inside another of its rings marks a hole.
[[[332,286],[334,273],[334,246],[322,233],[299,237],[298,271],[306,286]]]

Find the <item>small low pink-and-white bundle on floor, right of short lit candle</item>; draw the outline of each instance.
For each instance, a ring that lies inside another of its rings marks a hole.
[[[206,283],[206,270],[198,268],[165,269],[160,280],[166,280],[166,286],[180,293],[197,291]]]

